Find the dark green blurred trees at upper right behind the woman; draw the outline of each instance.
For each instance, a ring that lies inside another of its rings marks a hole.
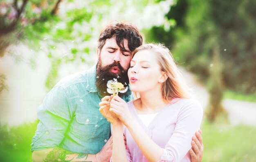
[[[171,33],[162,33],[162,38],[156,37],[159,42],[171,46],[175,59],[204,82],[212,79],[209,65],[218,46],[224,66],[222,86],[256,93],[256,0],[187,0],[187,6],[180,1],[177,4],[183,3],[182,9],[187,9],[180,14],[182,18],[175,18],[182,9],[173,13],[172,8],[169,18],[184,20],[184,24],[175,26]]]

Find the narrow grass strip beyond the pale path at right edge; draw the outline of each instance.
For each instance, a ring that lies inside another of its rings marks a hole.
[[[228,90],[228,91],[225,91],[224,98],[256,102],[256,93],[243,94],[243,93]]]

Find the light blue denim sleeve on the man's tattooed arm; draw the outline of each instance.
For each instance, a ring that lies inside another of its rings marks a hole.
[[[63,87],[54,87],[38,108],[39,123],[31,151],[59,146],[71,120],[70,103]]]

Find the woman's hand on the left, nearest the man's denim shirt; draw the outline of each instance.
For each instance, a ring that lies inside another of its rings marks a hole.
[[[112,123],[112,124],[121,124],[121,121],[110,112],[110,102],[112,99],[112,95],[111,96],[105,96],[101,99],[101,102],[99,103],[99,111],[101,112],[101,114],[107,118],[107,120]]]

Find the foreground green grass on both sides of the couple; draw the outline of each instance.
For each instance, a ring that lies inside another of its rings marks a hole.
[[[30,144],[38,121],[8,128],[0,126],[0,161],[32,162]],[[202,162],[255,162],[256,128],[203,122]]]

